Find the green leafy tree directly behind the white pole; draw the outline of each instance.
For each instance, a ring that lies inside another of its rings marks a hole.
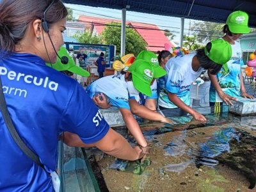
[[[116,54],[120,54],[121,50],[121,24],[111,22],[104,27],[102,31],[102,39],[104,44],[116,45]],[[138,55],[141,50],[145,50],[147,43],[140,34],[133,29],[126,27],[125,30],[125,54]]]

